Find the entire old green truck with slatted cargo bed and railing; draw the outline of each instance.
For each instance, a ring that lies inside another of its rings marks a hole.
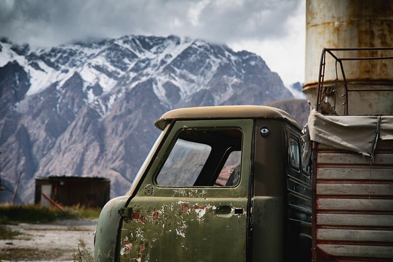
[[[264,106],[161,116],[131,189],[100,214],[95,260],[393,261],[393,89],[348,85],[352,58],[334,54],[392,50],[324,49],[303,133]],[[326,54],[342,80],[324,81]],[[359,106],[366,93],[383,106]]]

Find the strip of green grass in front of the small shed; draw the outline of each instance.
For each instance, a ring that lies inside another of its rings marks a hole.
[[[98,218],[100,208],[84,206],[67,207],[64,211],[51,206],[0,204],[0,224],[48,223],[57,219],[94,219]]]

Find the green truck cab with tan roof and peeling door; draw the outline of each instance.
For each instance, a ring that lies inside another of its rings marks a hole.
[[[95,261],[310,261],[302,126],[264,106],[172,110],[125,196],[101,211]]]

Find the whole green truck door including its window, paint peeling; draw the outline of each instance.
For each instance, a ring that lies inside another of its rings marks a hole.
[[[127,261],[245,261],[253,120],[176,121],[122,212]]]

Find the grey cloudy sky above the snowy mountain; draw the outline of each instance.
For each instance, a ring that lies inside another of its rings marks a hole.
[[[305,0],[0,0],[0,36],[32,47],[125,34],[191,36],[304,81]]]

